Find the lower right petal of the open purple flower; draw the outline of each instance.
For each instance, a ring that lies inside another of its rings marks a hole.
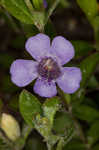
[[[64,67],[63,75],[57,79],[57,83],[65,93],[74,93],[80,87],[81,78],[79,68]]]

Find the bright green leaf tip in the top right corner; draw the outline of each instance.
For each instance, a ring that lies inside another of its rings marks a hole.
[[[93,19],[98,14],[97,0],[77,0],[77,3],[89,20]]]

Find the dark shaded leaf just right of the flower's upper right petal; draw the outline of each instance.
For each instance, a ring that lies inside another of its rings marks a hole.
[[[93,46],[85,41],[72,41],[72,44],[75,48],[75,57],[82,57],[88,55],[92,50]]]

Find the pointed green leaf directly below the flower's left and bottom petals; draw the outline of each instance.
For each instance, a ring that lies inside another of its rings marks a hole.
[[[42,112],[38,99],[26,90],[23,90],[19,98],[20,112],[27,124],[34,127],[33,119],[35,115]]]

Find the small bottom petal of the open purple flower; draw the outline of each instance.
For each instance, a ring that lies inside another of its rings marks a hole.
[[[54,82],[47,82],[38,79],[34,85],[34,91],[42,97],[53,97],[57,94],[56,85]]]

